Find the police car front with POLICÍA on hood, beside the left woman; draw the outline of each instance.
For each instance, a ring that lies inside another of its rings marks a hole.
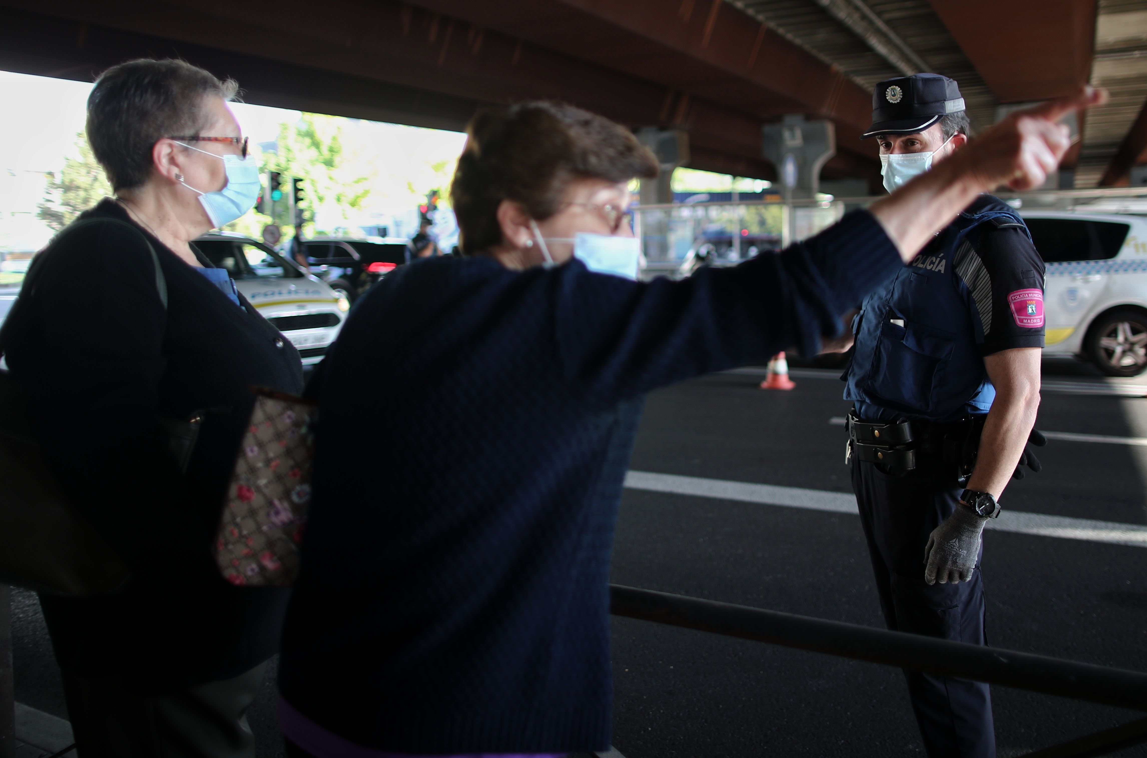
[[[194,244],[227,269],[243,297],[298,349],[303,365],[322,360],[343,327],[351,307],[346,298],[250,237],[213,231]]]

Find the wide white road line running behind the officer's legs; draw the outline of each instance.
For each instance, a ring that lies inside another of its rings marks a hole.
[[[732,482],[724,479],[655,474],[643,471],[631,471],[626,474],[625,487],[649,492],[689,495],[693,497],[756,503],[759,505],[778,505],[806,511],[828,511],[832,513],[851,513],[852,515],[857,515],[858,513],[857,502],[852,495],[804,489],[801,487],[754,484],[750,482]],[[1005,510],[998,519],[990,519],[988,521],[988,528],[1021,535],[1147,547],[1147,527],[1137,523],[1070,519],[1043,513]]]

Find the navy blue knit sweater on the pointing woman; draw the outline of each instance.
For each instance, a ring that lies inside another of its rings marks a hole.
[[[283,696],[397,752],[607,749],[609,559],[643,396],[814,352],[900,266],[857,212],[682,282],[489,258],[388,277],[322,369]]]

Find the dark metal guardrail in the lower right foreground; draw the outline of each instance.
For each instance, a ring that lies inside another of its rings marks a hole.
[[[1147,711],[1147,673],[611,584],[615,616]],[[1147,742],[1147,718],[1024,758],[1084,758]]]

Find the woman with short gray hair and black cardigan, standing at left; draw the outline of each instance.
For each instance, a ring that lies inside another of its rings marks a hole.
[[[87,139],[116,196],[37,256],[5,326],[56,480],[131,570],[114,595],[40,598],[85,758],[255,756],[245,711],[288,591],[228,584],[211,545],[250,387],[298,393],[303,373],[192,244],[258,195],[235,90],[181,61],[99,78]],[[161,419],[193,417],[181,471]]]

